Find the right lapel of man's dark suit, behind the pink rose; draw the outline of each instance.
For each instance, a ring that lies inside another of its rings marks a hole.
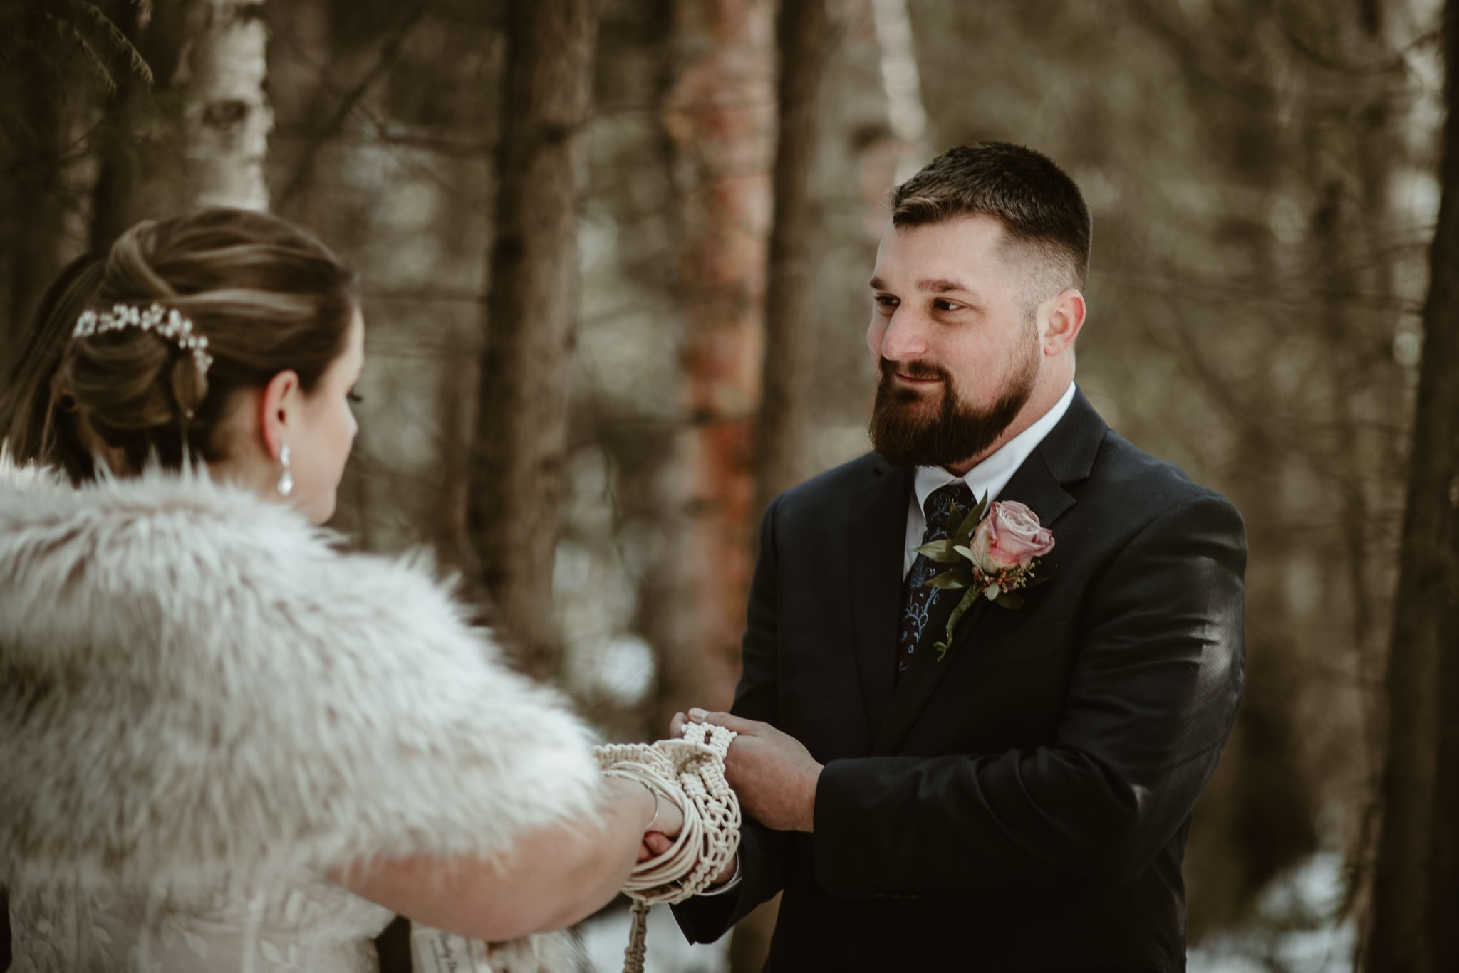
[[[1042,443],[1024,460],[1023,465],[1008,480],[1008,486],[998,495],[999,500],[1018,500],[1039,515],[1043,527],[1052,528],[1055,522],[1074,506],[1074,497],[1064,489],[1064,484],[1083,480],[1088,476],[1094,464],[1099,443],[1103,441],[1109,426],[1099,417],[1099,413],[1088,404],[1084,394],[1075,391],[1074,401],[1064,419],[1053,427]],[[903,528],[903,534],[905,534]],[[1058,537],[1058,531],[1055,531]],[[899,565],[900,567],[900,565]],[[1053,582],[1058,584],[1058,582]],[[900,589],[899,589],[900,591]],[[912,667],[902,674],[902,681],[896,687],[891,705],[887,708],[886,719],[880,731],[874,729],[872,754],[889,756],[897,753],[902,741],[916,724],[922,709],[937,691],[938,684],[953,662],[964,651],[972,651],[969,642],[978,623],[988,611],[1008,611],[1007,608],[989,607],[986,598],[978,598],[967,610],[967,614],[957,623],[953,632],[953,642],[941,662],[935,654],[924,652],[915,659]]]

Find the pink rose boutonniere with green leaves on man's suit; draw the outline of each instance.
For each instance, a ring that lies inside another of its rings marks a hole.
[[[1004,608],[1021,608],[1020,589],[1037,588],[1052,570],[1043,557],[1053,550],[1053,532],[1039,524],[1039,515],[1017,500],[998,500],[988,506],[988,495],[966,513],[953,505],[947,521],[947,540],[916,548],[951,570],[922,582],[932,588],[966,588],[963,600],[947,619],[947,635],[935,646],[941,662],[953,643],[953,629],[979,597]]]

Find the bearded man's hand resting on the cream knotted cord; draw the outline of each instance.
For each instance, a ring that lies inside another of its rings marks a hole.
[[[676,713],[671,726],[681,735],[684,715]],[[816,763],[800,740],[782,734],[770,724],[741,719],[730,713],[689,710],[696,724],[715,724],[738,734],[725,756],[725,780],[740,796],[746,814],[778,831],[810,831],[816,824],[816,782],[821,764]]]

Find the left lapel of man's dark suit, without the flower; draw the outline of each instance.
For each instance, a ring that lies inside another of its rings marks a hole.
[[[868,740],[891,702],[897,623],[902,613],[902,559],[906,551],[912,471],[880,465],[880,476],[852,497],[851,617]]]

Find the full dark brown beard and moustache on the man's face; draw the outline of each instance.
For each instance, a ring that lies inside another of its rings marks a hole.
[[[881,359],[881,381],[871,410],[871,445],[899,467],[948,467],[988,451],[1008,429],[1033,395],[1039,376],[1037,333],[1032,350],[1004,384],[998,400],[986,408],[969,406],[957,394],[953,375],[925,362],[906,362],[902,371],[912,378],[935,378],[943,394],[926,400],[916,389],[897,388],[896,365]]]

